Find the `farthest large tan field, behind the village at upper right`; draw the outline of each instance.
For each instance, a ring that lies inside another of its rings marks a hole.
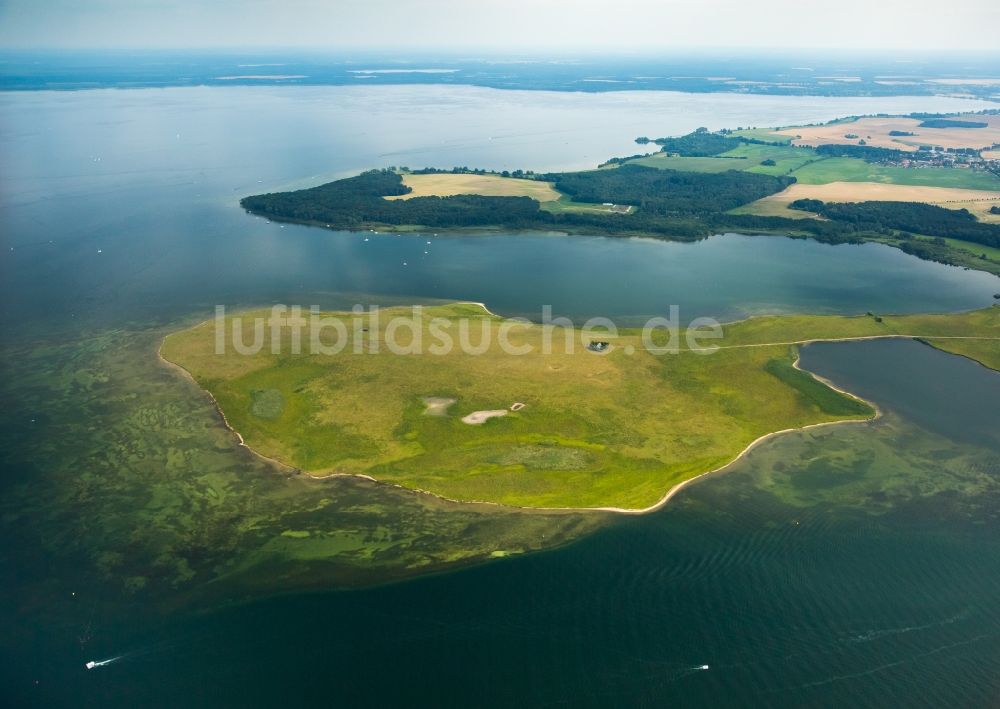
[[[942,148],[988,148],[1000,143],[1000,116],[955,116],[959,120],[988,123],[986,128],[920,128],[916,118],[859,118],[849,123],[824,126],[800,126],[775,131],[777,135],[793,136],[794,145],[857,145],[864,140],[878,148],[915,151],[920,145]],[[913,135],[894,136],[890,131]],[[848,135],[857,136],[848,138]]]

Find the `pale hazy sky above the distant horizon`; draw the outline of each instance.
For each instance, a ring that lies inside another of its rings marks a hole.
[[[0,47],[1000,50],[998,0],[0,0]]]

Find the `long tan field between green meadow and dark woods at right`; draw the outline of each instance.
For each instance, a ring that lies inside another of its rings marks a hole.
[[[776,215],[797,199],[818,199],[823,202],[924,202],[983,214],[989,212],[991,206],[1000,205],[1000,192],[955,187],[889,185],[882,182],[830,182],[825,185],[796,183],[778,194],[747,205],[746,211],[752,214]]]

